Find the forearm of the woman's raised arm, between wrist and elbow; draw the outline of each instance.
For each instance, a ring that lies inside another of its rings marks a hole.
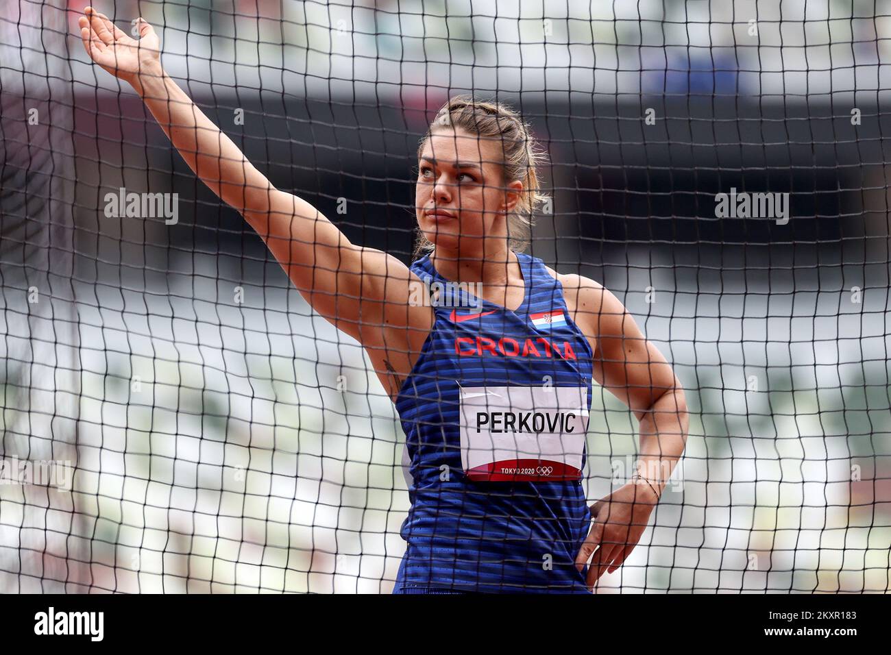
[[[274,188],[158,66],[128,80],[189,168],[241,214],[267,214]]]

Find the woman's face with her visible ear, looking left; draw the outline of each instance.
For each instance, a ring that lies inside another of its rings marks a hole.
[[[463,253],[483,250],[483,237],[507,236],[507,212],[522,183],[505,188],[502,145],[462,129],[438,127],[421,151],[415,214],[421,232],[437,247]]]

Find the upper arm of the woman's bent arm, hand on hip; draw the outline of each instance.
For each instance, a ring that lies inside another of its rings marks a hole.
[[[576,323],[584,324],[595,346],[594,379],[640,419],[659,397],[680,387],[671,364],[613,293],[593,280],[573,277],[578,278]]]

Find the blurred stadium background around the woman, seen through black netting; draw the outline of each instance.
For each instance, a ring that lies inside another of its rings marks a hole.
[[[529,252],[616,294],[690,407],[600,591],[887,592],[887,4],[96,8],[150,21],[277,188],[406,264],[429,121],[458,93],[511,103],[550,159]],[[88,61],[80,10],[0,5],[0,591],[388,593],[392,402]],[[113,216],[129,192],[176,216]],[[788,220],[716,209],[767,192]],[[591,502],[630,475],[636,425],[595,386]],[[49,461],[69,485],[22,481]]]

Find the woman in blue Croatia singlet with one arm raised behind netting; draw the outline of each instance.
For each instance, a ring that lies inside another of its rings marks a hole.
[[[423,256],[406,267],[270,184],[168,77],[147,22],[135,39],[84,13],[86,52],[133,86],[313,309],[362,344],[396,404],[412,507],[394,593],[587,593],[616,570],[683,453],[683,389],[612,293],[522,252],[544,196],[519,116],[470,98],[439,111],[418,151]],[[641,468],[589,508],[593,381],[640,422]]]

